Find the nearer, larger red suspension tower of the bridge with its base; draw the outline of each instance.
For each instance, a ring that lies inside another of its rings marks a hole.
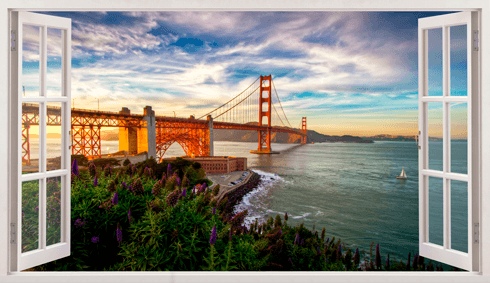
[[[263,126],[262,119],[267,117],[267,130],[259,130],[259,147],[257,150],[250,151],[251,153],[258,154],[272,154],[279,153],[277,151],[272,151],[271,149],[271,127],[272,127],[272,75],[260,76],[260,89],[259,89],[259,126]],[[264,107],[263,104],[266,104]],[[264,108],[266,111],[264,111]]]

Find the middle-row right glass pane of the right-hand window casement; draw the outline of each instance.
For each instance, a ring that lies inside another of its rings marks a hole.
[[[450,103],[451,172],[468,174],[468,104]]]

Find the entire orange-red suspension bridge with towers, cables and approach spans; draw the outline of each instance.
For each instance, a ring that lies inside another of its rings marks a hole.
[[[22,104],[22,161],[26,165],[31,162],[29,129],[39,125],[39,110],[39,104]],[[61,107],[48,105],[45,121],[50,126],[61,125]],[[259,154],[274,153],[271,149],[273,133],[293,134],[289,142],[300,139],[301,143],[306,143],[307,136],[306,117],[302,117],[300,129],[289,123],[272,75],[260,76],[240,94],[199,118],[155,116],[151,106],[144,108],[143,115],[131,114],[126,107],[119,112],[72,108],[72,154],[100,158],[102,127],[119,128],[120,151],[129,154],[147,151],[148,156],[157,160],[163,158],[175,142],[187,156],[214,156],[213,129],[257,131],[258,148],[251,152]]]

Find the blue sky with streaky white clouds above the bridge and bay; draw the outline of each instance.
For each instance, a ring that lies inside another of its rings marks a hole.
[[[417,20],[445,13],[44,12],[72,19],[76,108],[201,116],[272,74],[291,125],[306,116],[308,129],[356,136],[417,133]],[[38,95],[39,30],[24,30],[23,84]],[[451,28],[452,95],[466,95],[465,38]],[[442,91],[441,44],[431,31],[429,95]],[[60,47],[48,29],[48,95],[59,95]],[[466,110],[452,108],[464,136]]]

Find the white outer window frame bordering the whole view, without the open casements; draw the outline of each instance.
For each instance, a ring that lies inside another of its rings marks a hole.
[[[487,0],[411,0],[407,2],[395,2],[391,0],[333,0],[328,2],[305,1],[202,1],[202,0],[84,0],[76,5],[68,1],[57,0],[7,0],[0,3],[0,15],[2,29],[0,38],[4,44],[0,45],[2,60],[8,58],[10,44],[5,42],[10,37],[8,22],[10,11],[123,11],[123,10],[322,10],[322,11],[479,11],[481,18],[480,28],[480,52],[481,78],[490,77],[490,56],[484,53],[484,40],[490,38],[490,2]],[[74,8],[77,7],[77,8]],[[353,8],[355,7],[355,8]],[[487,55],[487,56],[485,56]],[[8,60],[8,59],[7,59]],[[4,61],[5,62],[5,61]],[[0,103],[0,156],[9,156],[11,149],[9,132],[11,97],[9,97],[9,73],[8,61],[2,64],[0,70],[0,87],[2,87],[3,99]],[[481,80],[480,109],[490,109],[490,80]],[[485,93],[485,95],[483,95]],[[5,103],[7,102],[7,103]],[[490,111],[481,111],[481,121],[490,121]],[[490,172],[490,127],[481,127],[481,172]],[[244,281],[269,282],[434,282],[449,280],[452,282],[489,282],[490,281],[490,174],[481,174],[478,181],[480,188],[481,222],[479,230],[480,266],[479,272],[9,272],[9,186],[11,183],[10,165],[6,158],[0,159],[0,281],[1,282],[56,282],[56,281],[104,281],[104,282],[134,282],[138,281],[200,281],[200,282],[230,282],[238,278]],[[110,275],[110,276],[108,276]]]

